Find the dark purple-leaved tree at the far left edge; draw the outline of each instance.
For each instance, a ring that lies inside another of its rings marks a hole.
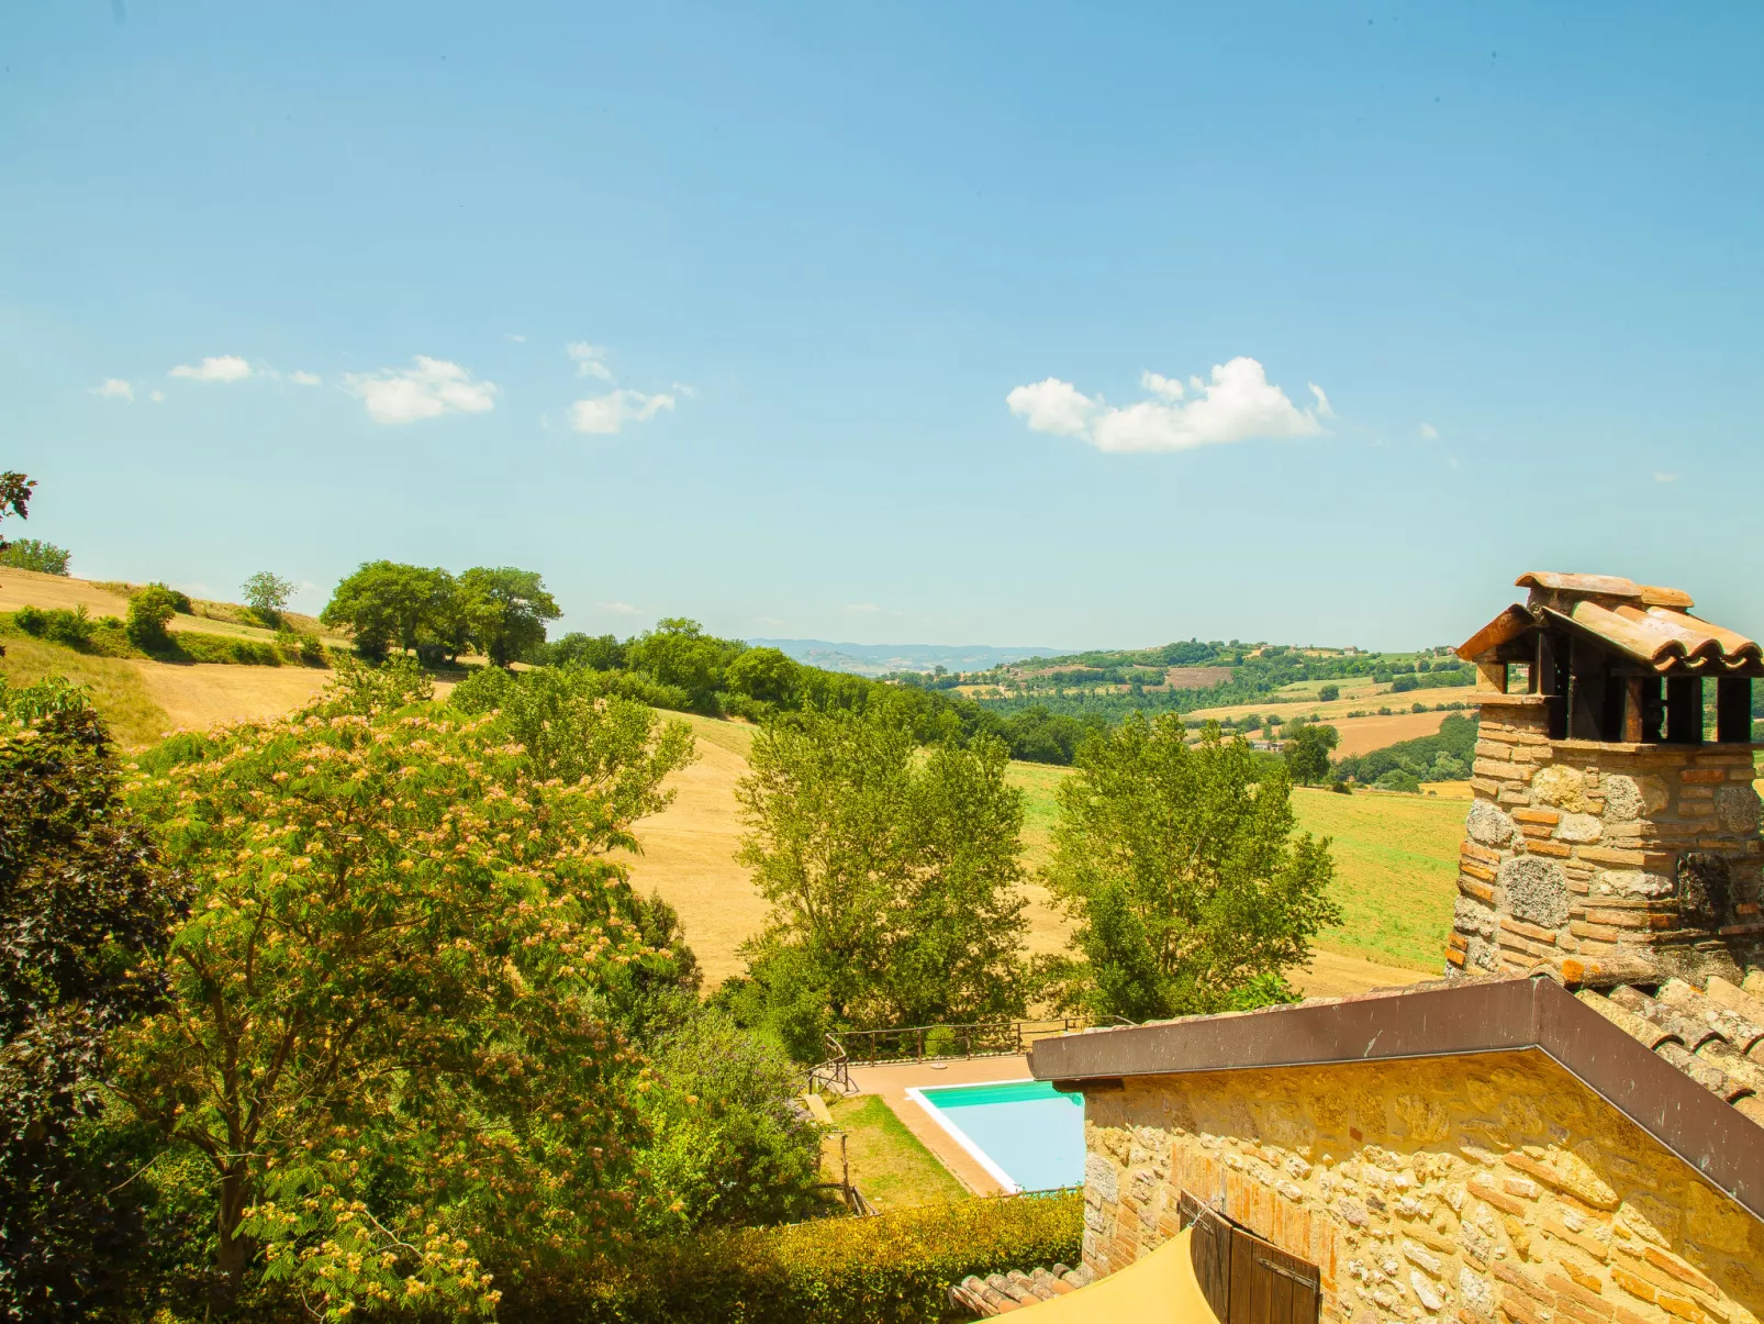
[[[159,1003],[143,957],[175,911],[88,697],[0,680],[0,1317],[139,1301],[139,1163],[90,1132],[106,1036]]]

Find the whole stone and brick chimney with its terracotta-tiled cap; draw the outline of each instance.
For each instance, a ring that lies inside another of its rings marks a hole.
[[[1764,650],[1692,616],[1679,590],[1579,574],[1519,586],[1528,602],[1457,650],[1480,671],[1482,729],[1446,974],[1738,983],[1764,964]]]

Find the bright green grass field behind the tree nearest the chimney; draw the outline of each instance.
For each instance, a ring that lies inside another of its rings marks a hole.
[[[1023,858],[1030,869],[1048,861],[1058,814],[1055,791],[1069,775],[1039,763],[1011,764],[1011,784],[1023,791]],[[1300,831],[1332,842],[1334,895],[1342,909],[1342,925],[1325,932],[1318,946],[1408,969],[1438,969],[1452,927],[1466,809],[1462,800],[1297,787]]]

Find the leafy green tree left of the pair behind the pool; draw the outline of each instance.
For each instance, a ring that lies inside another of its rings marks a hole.
[[[1020,1015],[1021,794],[1002,741],[923,756],[887,711],[804,711],[753,741],[741,861],[773,904],[750,996],[801,1057],[850,1026]]]

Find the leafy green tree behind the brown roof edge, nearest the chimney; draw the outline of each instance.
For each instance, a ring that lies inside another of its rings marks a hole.
[[[1284,768],[1208,727],[1129,717],[1060,787],[1048,886],[1078,922],[1065,1001],[1129,1020],[1288,997],[1328,899],[1328,840],[1295,835]]]

